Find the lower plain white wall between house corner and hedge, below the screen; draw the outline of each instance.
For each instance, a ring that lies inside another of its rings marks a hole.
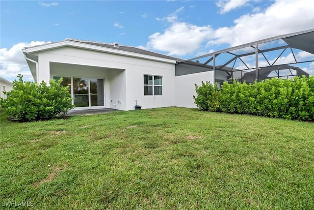
[[[196,108],[193,95],[196,95],[195,84],[201,85],[202,81],[214,83],[214,72],[201,72],[175,77],[175,106]]]

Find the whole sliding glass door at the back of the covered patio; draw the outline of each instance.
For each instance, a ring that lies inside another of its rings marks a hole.
[[[61,77],[53,77],[59,80]],[[62,77],[62,86],[69,86],[69,91],[74,98],[75,107],[105,106],[104,79],[87,77]]]

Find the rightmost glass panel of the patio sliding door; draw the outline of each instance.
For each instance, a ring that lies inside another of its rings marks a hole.
[[[104,79],[90,79],[91,106],[104,106]]]

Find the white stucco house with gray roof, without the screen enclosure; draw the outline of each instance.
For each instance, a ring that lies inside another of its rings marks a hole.
[[[194,84],[213,72],[176,77],[182,59],[118,43],[66,39],[23,49],[35,81],[63,78],[76,109],[196,107]]]

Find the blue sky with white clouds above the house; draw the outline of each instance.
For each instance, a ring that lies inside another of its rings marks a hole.
[[[313,28],[313,0],[0,0],[0,76],[33,81],[22,48],[66,38],[191,59]]]

